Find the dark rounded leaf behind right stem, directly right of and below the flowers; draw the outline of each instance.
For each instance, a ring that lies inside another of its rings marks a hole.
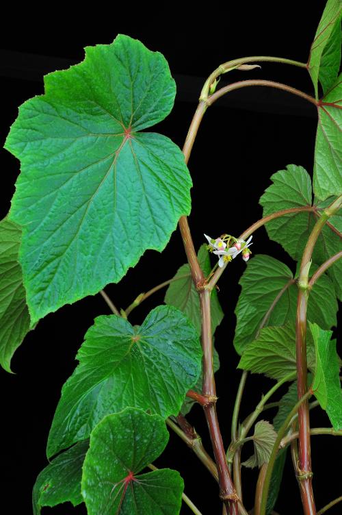
[[[263,327],[294,323],[298,288],[290,269],[268,255],[254,256],[239,284],[242,291],[235,308],[237,326],[234,345],[241,355]],[[308,300],[308,319],[329,329],[336,325],[336,312],[337,301],[332,283],[328,277],[321,275]]]

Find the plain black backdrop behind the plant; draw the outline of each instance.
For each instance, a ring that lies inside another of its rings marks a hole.
[[[161,51],[179,80],[179,94],[174,110],[153,130],[166,134],[179,146],[183,145],[187,128],[196,109],[196,100],[205,78],[222,62],[245,55],[278,55],[306,62],[308,51],[324,2],[272,3],[272,7],[253,7],[252,3],[239,3],[222,9],[209,4],[185,16],[182,11],[171,14],[171,7],[158,10],[142,8],[133,16],[133,5],[127,3],[123,14],[93,5],[92,12],[83,10],[77,18],[70,18],[65,9],[49,12],[46,9],[22,12],[16,23],[12,18],[3,20],[8,25],[1,48],[21,55],[16,66],[2,53],[1,62],[1,147],[8,129],[17,116],[18,105],[34,95],[42,94],[42,75],[51,68],[53,58],[66,61],[66,66],[83,60],[83,47],[96,43],[110,43],[118,33],[127,34],[144,42],[149,49]],[[184,6],[183,6],[184,7]],[[40,21],[38,21],[40,16]],[[32,71],[27,54],[46,56]],[[14,54],[12,54],[14,55]],[[26,64],[25,64],[26,63]],[[50,64],[49,64],[50,63]],[[180,77],[180,75],[187,75]],[[197,88],[191,77],[202,77]],[[265,78],[282,81],[313,95],[313,87],[304,69],[280,64],[263,64],[261,70],[250,73],[234,72],[228,79]],[[205,242],[203,233],[218,236],[224,232],[238,236],[251,223],[261,218],[259,197],[270,184],[272,173],[294,163],[304,166],[309,173],[313,167],[316,113],[305,101],[292,100],[282,92],[276,105],[269,107],[271,91],[263,90],[253,104],[252,88],[241,90],[237,106],[233,102],[218,101],[205,114],[202,121],[189,170],[194,181],[192,189],[192,215],[189,224],[196,249]],[[305,105],[304,105],[305,104]],[[280,114],[282,113],[282,114]],[[1,151],[1,218],[10,208],[10,198],[19,170],[19,162],[5,150]],[[285,262],[294,271],[295,264],[281,247],[269,242],[264,229],[254,234],[254,253],[270,253]],[[252,258],[251,258],[252,259]],[[109,285],[106,291],[118,307],[127,307],[140,292],[174,275],[185,262],[179,232],[172,234],[163,254],[146,251],[135,268],[130,269],[118,285]],[[235,316],[233,314],[239,294],[238,281],[246,264],[235,260],[220,279],[220,301],[226,316],[216,333],[216,345],[222,366],[216,375],[218,414],[224,442],[229,443],[231,413],[240,372],[239,360],[233,349]],[[131,315],[131,323],[140,324],[146,314],[163,303],[164,291],[150,297]],[[44,455],[53,412],[60,398],[62,384],[75,368],[75,354],[83,336],[95,316],[109,314],[100,295],[87,297],[75,305],[66,305],[57,313],[49,314],[35,331],[25,338],[12,360],[15,375],[0,370],[3,421],[1,423],[1,468],[3,470],[2,502],[12,505],[10,512],[31,513],[31,487],[36,475],[46,466]],[[241,417],[247,416],[259,402],[273,381],[250,376],[241,406]],[[286,388],[280,390],[284,393]],[[275,412],[267,412],[274,416]],[[202,436],[205,447],[211,451],[207,427],[200,407],[189,415]],[[324,413],[312,412],[313,427],[329,426]],[[341,475],[333,473],[338,465],[339,441],[329,436],[313,438],[314,488],[317,508],[341,494]],[[252,453],[246,445],[243,457]],[[340,453],[341,457],[341,453]],[[159,460],[158,466],[176,468],[185,479],[185,492],[204,515],[220,513],[218,487],[197,461],[196,457],[173,434]],[[244,469],[244,501],[252,506],[256,473]],[[276,510],[281,514],[300,513],[300,496],[293,476],[291,460],[287,460],[285,480],[280,490]],[[42,513],[85,513],[83,506],[73,510],[71,505]],[[190,514],[185,506],[181,513]],[[335,507],[331,514],[339,513]]]

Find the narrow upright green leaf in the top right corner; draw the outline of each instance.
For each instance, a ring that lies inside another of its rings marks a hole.
[[[315,87],[316,98],[318,79],[326,92],[339,72],[341,14],[341,0],[328,0],[311,45],[307,67]]]

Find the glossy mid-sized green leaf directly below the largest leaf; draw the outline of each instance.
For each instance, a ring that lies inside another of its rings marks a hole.
[[[48,456],[87,438],[103,416],[127,406],[177,415],[200,375],[201,358],[194,326],[175,307],[156,307],[140,327],[98,316],[62,388]]]

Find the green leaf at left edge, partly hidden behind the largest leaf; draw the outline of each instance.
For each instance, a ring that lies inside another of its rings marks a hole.
[[[11,372],[14,351],[30,329],[23,274],[18,263],[21,229],[7,218],[0,222],[0,364]]]

